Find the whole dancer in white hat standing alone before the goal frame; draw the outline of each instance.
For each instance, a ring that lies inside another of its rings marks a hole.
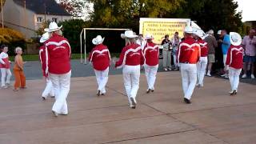
[[[106,94],[106,83],[109,78],[110,51],[102,44],[104,38],[98,35],[92,40],[95,47],[91,50],[89,61],[93,63],[96,80],[98,83],[97,95]]]

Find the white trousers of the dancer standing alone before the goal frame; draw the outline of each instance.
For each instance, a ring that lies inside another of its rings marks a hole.
[[[98,90],[101,91],[101,94],[105,94],[106,93],[106,83],[109,79],[109,70],[110,68],[107,67],[106,70],[94,70],[95,75],[96,75],[96,80],[98,83]]]

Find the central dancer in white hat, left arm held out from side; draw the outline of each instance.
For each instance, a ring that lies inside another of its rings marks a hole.
[[[138,35],[132,30],[126,30],[125,34],[121,34],[121,38],[126,40],[126,46],[122,49],[118,62],[115,63],[116,68],[123,68],[124,86],[132,109],[136,108],[140,66],[144,64],[142,48],[135,42],[137,37]]]

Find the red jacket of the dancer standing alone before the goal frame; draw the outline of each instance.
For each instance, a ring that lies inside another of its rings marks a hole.
[[[89,61],[93,62],[95,70],[106,70],[110,66],[110,51],[106,46],[99,44],[91,50]]]

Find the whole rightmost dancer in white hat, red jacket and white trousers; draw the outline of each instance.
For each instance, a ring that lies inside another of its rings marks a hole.
[[[241,46],[242,38],[240,34],[230,32],[230,43],[231,45],[227,52],[226,65],[230,68],[230,95],[234,95],[238,92],[239,75],[242,70],[242,58],[244,54],[244,50]]]

